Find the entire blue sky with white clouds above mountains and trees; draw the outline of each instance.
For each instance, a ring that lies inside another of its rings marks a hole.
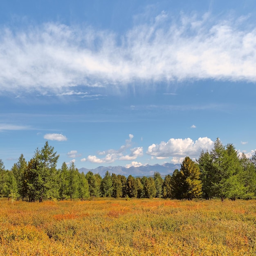
[[[254,1],[0,3],[0,159],[77,168],[256,149]]]

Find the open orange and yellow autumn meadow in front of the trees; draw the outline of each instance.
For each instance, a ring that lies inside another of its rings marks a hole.
[[[256,200],[0,200],[0,255],[256,255]]]

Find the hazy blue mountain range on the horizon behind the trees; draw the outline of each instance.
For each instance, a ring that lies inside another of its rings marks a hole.
[[[91,171],[92,173],[99,173],[101,177],[104,177],[106,171],[115,174],[121,174],[126,177],[132,175],[133,177],[137,176],[153,176],[155,172],[159,172],[162,176],[167,174],[172,174],[175,169],[180,169],[180,164],[171,164],[165,163],[163,165],[155,164],[155,165],[141,165],[138,167],[131,166],[130,168],[126,168],[124,166],[99,166],[95,169],[87,169],[80,168],[79,172],[88,173]]]

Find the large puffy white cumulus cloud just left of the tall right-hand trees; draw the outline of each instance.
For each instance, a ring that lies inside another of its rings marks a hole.
[[[160,144],[152,144],[148,147],[147,154],[155,157],[197,157],[202,150],[210,150],[213,141],[207,137],[193,141],[186,139],[169,139]]]

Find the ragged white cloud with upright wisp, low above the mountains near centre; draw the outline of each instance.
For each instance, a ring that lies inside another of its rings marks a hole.
[[[96,155],[89,155],[87,158],[81,159],[82,162],[89,161],[94,164],[112,163],[116,160],[135,160],[137,157],[143,156],[143,147],[131,148],[133,135],[129,134],[129,139],[126,139],[125,145],[119,149],[108,149],[99,151],[98,155],[105,155],[105,157],[97,157]],[[126,155],[126,150],[130,149],[130,154]]]

